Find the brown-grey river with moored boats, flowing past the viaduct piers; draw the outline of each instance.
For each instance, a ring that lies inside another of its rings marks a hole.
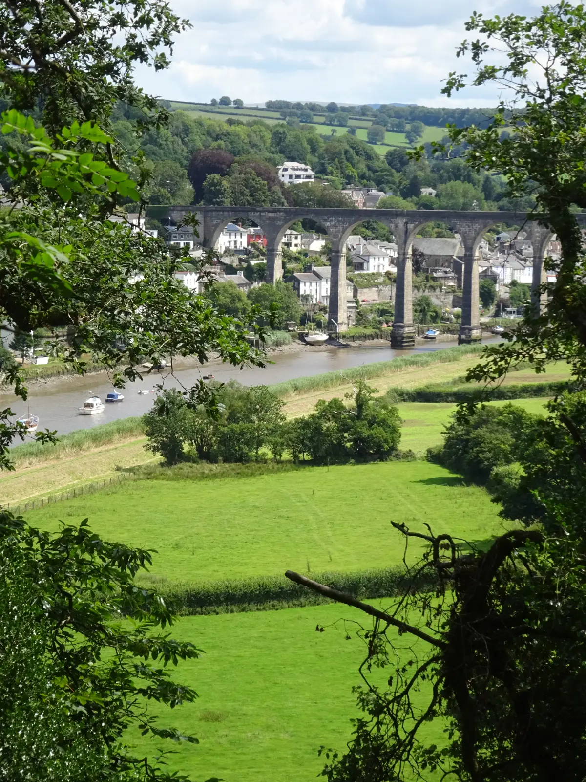
[[[488,339],[492,342],[492,339]],[[80,415],[77,408],[84,404],[89,392],[100,396],[113,390],[112,383],[106,375],[88,375],[81,378],[56,379],[46,386],[30,387],[30,413],[39,416],[39,429],[56,429],[59,434],[66,434],[74,429],[88,429],[118,418],[128,418],[131,415],[142,415],[152,406],[153,393],[141,395],[140,389],[152,392],[155,385],[163,383],[166,388],[179,387],[182,384],[190,388],[202,375],[213,372],[215,380],[227,382],[238,380],[245,386],[267,385],[284,382],[292,378],[306,375],[320,375],[323,372],[345,370],[348,367],[358,367],[361,364],[373,364],[375,361],[389,361],[391,358],[406,356],[412,353],[427,353],[432,350],[454,347],[454,342],[424,343],[413,350],[392,350],[390,346],[376,347],[332,347],[316,350],[315,353],[273,353],[269,355],[272,364],[266,368],[245,367],[239,369],[230,364],[213,362],[201,368],[183,369],[171,376],[168,372],[145,375],[145,379],[127,383],[122,393],[123,402],[107,404],[105,411],[99,415]],[[2,407],[10,406],[16,416],[27,413],[28,402],[16,400],[13,394],[0,395]]]

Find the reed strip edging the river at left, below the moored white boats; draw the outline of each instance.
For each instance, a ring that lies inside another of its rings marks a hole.
[[[75,432],[59,436],[59,441],[55,445],[23,443],[11,449],[10,455],[16,467],[27,467],[73,456],[92,448],[123,443],[126,440],[136,439],[144,433],[145,427],[141,418],[121,418],[120,421],[110,421],[108,424],[94,426],[91,429],[77,429]]]

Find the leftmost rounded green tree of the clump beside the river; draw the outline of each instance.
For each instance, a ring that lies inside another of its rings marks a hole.
[[[147,450],[160,454],[166,465],[185,458],[184,444],[191,440],[195,426],[193,411],[177,389],[164,389],[156,396],[152,410],[143,415]]]

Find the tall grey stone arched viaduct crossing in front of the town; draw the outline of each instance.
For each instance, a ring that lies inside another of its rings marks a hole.
[[[346,314],[346,240],[352,230],[365,220],[374,220],[390,228],[398,247],[395,321],[391,345],[396,348],[414,344],[413,296],[411,290],[411,246],[417,231],[427,223],[441,221],[459,233],[464,248],[463,306],[459,343],[481,339],[478,296],[478,247],[482,236],[496,223],[519,225],[533,245],[533,289],[545,282],[545,251],[552,231],[538,224],[534,215],[524,212],[458,212],[445,210],[385,210],[385,209],[304,209],[297,207],[256,208],[253,206],[170,206],[168,217],[179,221],[187,213],[195,213],[199,221],[202,245],[213,248],[229,222],[246,218],[263,228],[266,235],[266,280],[274,284],[283,276],[280,242],[285,231],[295,221],[307,218],[327,231],[331,242],[331,289],[329,320],[339,331],[347,327]],[[581,223],[584,217],[578,215]]]

